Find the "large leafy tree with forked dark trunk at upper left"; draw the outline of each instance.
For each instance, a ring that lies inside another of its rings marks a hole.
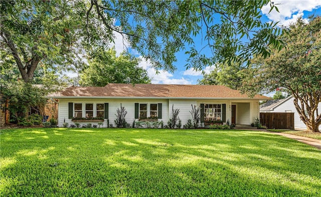
[[[79,0],[1,1],[0,49],[14,57],[25,82],[32,81],[38,65],[59,69],[89,46],[85,43],[110,41],[99,34],[103,31],[93,13],[86,15],[87,5]]]

